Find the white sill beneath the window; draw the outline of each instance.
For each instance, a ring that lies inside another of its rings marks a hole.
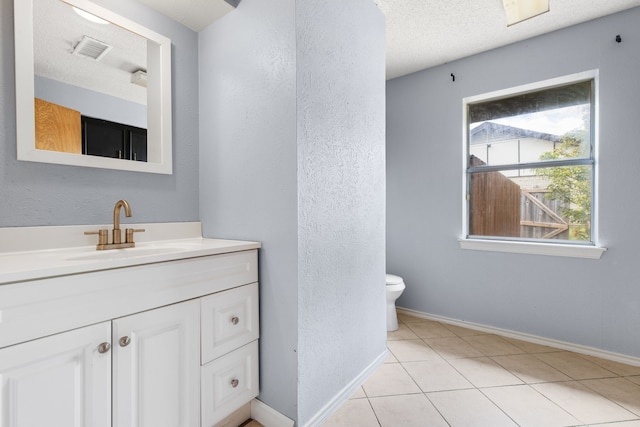
[[[600,259],[607,248],[597,246],[563,245],[555,243],[507,242],[504,240],[458,239],[462,249]]]

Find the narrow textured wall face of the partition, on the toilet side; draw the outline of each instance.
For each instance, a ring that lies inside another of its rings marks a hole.
[[[384,16],[296,2],[298,425],[385,351]]]

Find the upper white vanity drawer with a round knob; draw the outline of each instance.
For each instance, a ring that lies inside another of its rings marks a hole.
[[[201,300],[202,364],[258,339],[258,284]]]

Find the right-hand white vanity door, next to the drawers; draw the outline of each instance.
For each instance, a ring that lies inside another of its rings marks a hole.
[[[199,425],[199,301],[113,321],[115,427]]]

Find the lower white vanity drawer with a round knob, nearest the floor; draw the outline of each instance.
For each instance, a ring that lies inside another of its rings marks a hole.
[[[201,369],[202,426],[211,427],[258,395],[258,341]]]

